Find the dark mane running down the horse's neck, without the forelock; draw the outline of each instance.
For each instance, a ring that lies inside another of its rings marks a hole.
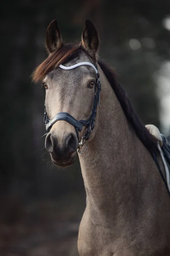
[[[132,125],[134,131],[136,132],[136,135],[142,141],[144,146],[150,151],[150,153],[158,152],[157,141],[155,137],[153,137],[153,135],[150,134],[149,131],[147,131],[147,128],[143,125],[143,123],[139,119],[139,116],[133,110],[133,107],[129,99],[127,98],[125,91],[116,81],[113,70],[101,60],[98,60],[98,64],[103,70],[109,83],[111,84],[111,87],[114,90],[114,93],[116,94],[116,97],[120,102],[120,105],[122,106],[125,116]]]

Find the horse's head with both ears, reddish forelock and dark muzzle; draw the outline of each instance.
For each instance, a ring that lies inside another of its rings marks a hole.
[[[94,128],[92,122],[91,127],[83,122],[74,124],[79,120],[89,120],[93,113],[94,97],[98,91],[95,70],[98,45],[97,31],[89,20],[86,20],[79,45],[63,44],[55,20],[48,26],[46,47],[49,56],[37,67],[33,79],[41,80],[46,90],[48,134],[45,139],[45,148],[50,153],[52,162],[57,166],[65,167],[74,163],[79,138],[85,135],[87,140],[91,128]],[[71,67],[81,62],[91,63],[95,67],[82,65],[68,70],[63,69],[63,66],[59,67],[61,64]],[[95,116],[93,117],[95,119]],[[78,127],[79,125],[82,127]],[[90,140],[93,137],[94,134],[91,135]],[[84,137],[82,142],[84,143]]]

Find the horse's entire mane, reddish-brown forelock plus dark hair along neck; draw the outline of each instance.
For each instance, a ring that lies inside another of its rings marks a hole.
[[[53,52],[48,58],[45,59],[34,71],[32,74],[32,80],[34,82],[42,81],[47,73],[57,68],[60,64],[64,64],[69,60],[77,57],[81,51],[85,51],[83,47],[76,44],[65,44],[62,46],[58,51]],[[87,53],[87,52],[86,52]],[[87,53],[88,54],[88,53]],[[132,125],[136,135],[142,141],[144,146],[152,153],[157,152],[157,142],[155,137],[153,137],[149,131],[145,128],[142,124],[141,120],[139,119],[138,115],[132,108],[129,99],[127,98],[125,91],[122,87],[118,84],[115,79],[115,74],[113,70],[108,67],[103,61],[97,61],[101,69],[103,70],[106,78],[108,79],[111,87],[116,94],[117,99],[122,106],[122,109],[125,113],[127,120]]]

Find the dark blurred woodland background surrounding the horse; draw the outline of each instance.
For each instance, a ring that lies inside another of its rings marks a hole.
[[[31,72],[46,57],[48,24],[80,40],[96,26],[100,57],[116,68],[142,121],[170,134],[170,1],[1,1],[0,256],[76,256],[85,190],[79,162],[52,166],[45,152],[45,91]]]

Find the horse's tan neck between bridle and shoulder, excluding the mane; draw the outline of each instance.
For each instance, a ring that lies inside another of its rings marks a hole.
[[[99,68],[102,84],[94,138],[79,155],[88,204],[113,215],[123,201],[139,195],[137,180],[153,164],[150,153],[129,125],[113,89]],[[102,74],[102,76],[101,76]],[[141,162],[142,158],[142,162]],[[134,195],[134,190],[136,190]],[[117,204],[117,206],[116,206]]]

